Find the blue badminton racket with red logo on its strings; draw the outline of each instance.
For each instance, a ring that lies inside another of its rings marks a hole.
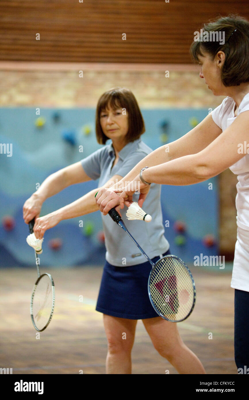
[[[193,311],[196,299],[195,282],[189,268],[180,258],[171,255],[160,258],[154,264],[131,236],[115,208],[112,208],[108,214],[125,230],[152,266],[148,292],[157,314],[171,322],[185,320]]]

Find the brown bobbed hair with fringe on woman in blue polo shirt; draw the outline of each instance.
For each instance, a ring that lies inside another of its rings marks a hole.
[[[145,132],[143,117],[134,94],[126,88],[112,88],[100,96],[97,104],[96,136],[98,143],[105,144],[108,140],[100,125],[100,113],[109,106],[114,110],[125,108],[128,112],[127,143],[134,142]]]

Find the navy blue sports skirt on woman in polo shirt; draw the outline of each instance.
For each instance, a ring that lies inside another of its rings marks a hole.
[[[169,250],[163,254],[170,254]],[[152,258],[153,263],[160,256]],[[104,314],[130,320],[158,317],[148,295],[150,263],[116,267],[104,265],[96,310]]]

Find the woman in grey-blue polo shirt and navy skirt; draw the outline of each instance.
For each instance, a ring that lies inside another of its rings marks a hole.
[[[98,143],[111,143],[100,148],[80,162],[50,175],[40,188],[26,200],[24,221],[36,218],[34,233],[42,238],[47,229],[61,220],[86,215],[99,208],[94,195],[101,188],[109,188],[120,181],[152,150],[141,141],[145,132],[143,117],[133,93],[125,88],[114,88],[99,99],[96,109],[96,136]],[[85,196],[48,215],[39,217],[42,203],[69,185],[99,179],[99,187]],[[140,233],[141,246],[156,262],[169,254],[169,243],[164,237],[160,203],[161,186],[152,184],[147,196],[146,211],[152,222],[127,220],[127,228],[135,237]],[[139,197],[139,194],[134,196]],[[122,212],[125,218],[125,212]],[[151,265],[143,254],[120,230],[110,216],[103,216],[106,245],[106,263],[100,285],[96,310],[104,314],[104,328],[108,340],[107,374],[131,374],[131,350],[137,320],[141,319],[159,354],[180,374],[205,374],[195,354],[182,342],[177,324],[163,320],[153,309],[147,292]],[[125,332],[125,338],[124,338]],[[125,339],[125,340],[124,340]]]

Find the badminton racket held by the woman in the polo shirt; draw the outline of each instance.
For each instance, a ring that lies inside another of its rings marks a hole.
[[[33,233],[34,223],[35,219],[28,224],[30,233]],[[34,284],[31,296],[30,315],[36,330],[42,332],[50,323],[54,312],[54,281],[50,274],[40,274],[39,258],[36,250],[35,256],[38,279]]]

